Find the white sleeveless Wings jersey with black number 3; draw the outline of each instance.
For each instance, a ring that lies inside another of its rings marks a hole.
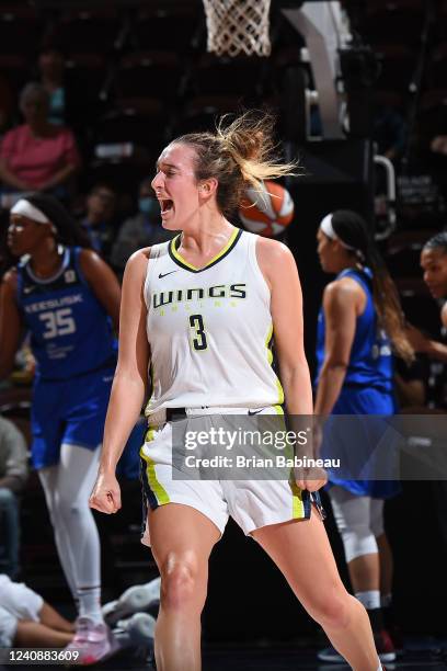
[[[180,236],[151,248],[145,300],[152,394],[146,414],[284,401],[271,365],[271,295],[256,240],[236,229],[203,269],[180,255]]]

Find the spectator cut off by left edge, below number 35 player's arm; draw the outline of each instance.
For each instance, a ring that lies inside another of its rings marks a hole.
[[[0,566],[8,576],[19,573],[20,521],[18,494],[27,478],[26,443],[9,420],[0,417]]]

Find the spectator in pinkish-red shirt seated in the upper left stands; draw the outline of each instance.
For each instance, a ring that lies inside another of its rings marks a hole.
[[[5,134],[0,149],[5,191],[46,191],[65,197],[80,166],[73,134],[48,121],[48,93],[39,83],[25,86],[20,109],[25,123]]]

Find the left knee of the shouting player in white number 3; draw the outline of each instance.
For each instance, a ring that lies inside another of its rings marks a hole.
[[[161,606],[170,610],[190,609],[197,601],[199,577],[197,562],[190,557],[168,556],[160,569]]]

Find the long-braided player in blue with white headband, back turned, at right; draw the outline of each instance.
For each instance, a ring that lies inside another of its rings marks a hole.
[[[396,287],[366,221],[356,213],[329,214],[317,239],[323,271],[336,277],[324,289],[319,315],[316,414],[393,414],[392,349],[405,360],[412,357]],[[375,432],[374,421],[371,418],[365,427],[364,440]],[[377,429],[379,435],[380,427]],[[357,450],[358,455],[363,441],[357,433],[353,436],[354,431],[357,424],[349,437],[347,431],[343,435],[349,440],[347,448]],[[334,445],[334,431],[329,433]],[[356,458],[353,455],[353,462]],[[392,577],[383,500],[397,493],[399,486],[388,480],[347,480],[336,471],[330,473],[329,479],[355,596],[368,612],[380,659],[392,661],[394,646],[381,612],[381,606],[391,602]],[[333,648],[319,652],[319,658],[342,661]]]

